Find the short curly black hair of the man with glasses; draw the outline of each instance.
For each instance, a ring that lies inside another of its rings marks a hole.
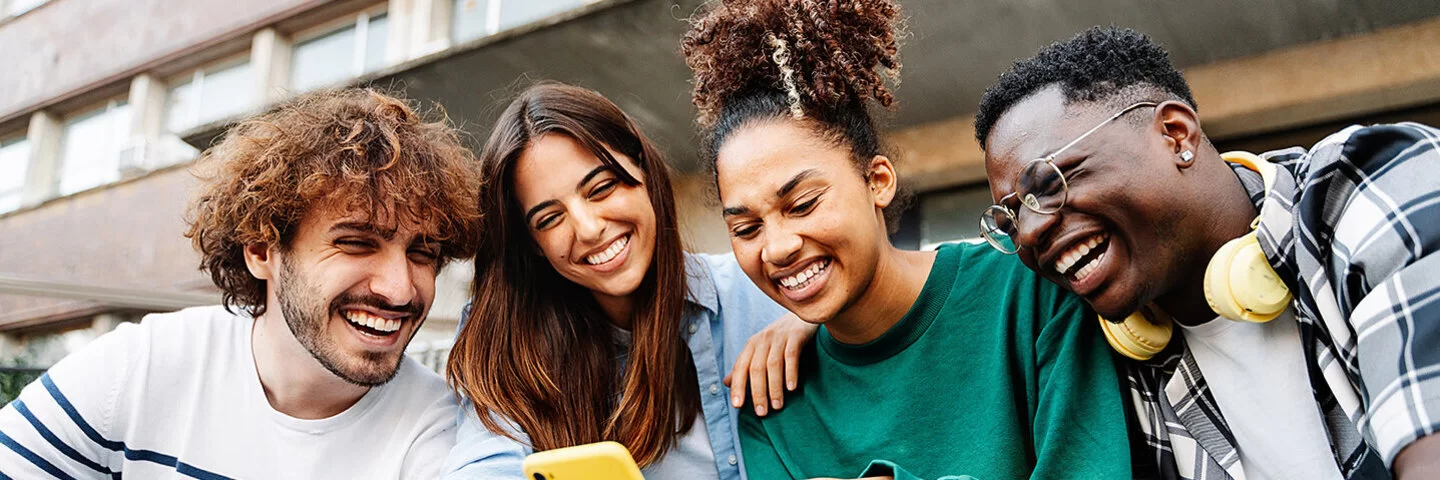
[[[985,138],[999,115],[1031,94],[1056,84],[1067,104],[1145,92],[1168,95],[1198,110],[1189,94],[1189,84],[1171,65],[1165,48],[1133,29],[1090,27],[1068,40],[1040,49],[1035,56],[1015,62],[985,89],[979,111],[975,112],[975,140],[979,140],[981,148],[986,147]]]

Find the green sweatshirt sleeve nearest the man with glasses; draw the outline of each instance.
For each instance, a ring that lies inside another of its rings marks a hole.
[[[1096,316],[1077,297],[1056,291],[1058,306],[1035,343],[1031,477],[1129,479],[1129,432],[1110,347]]]

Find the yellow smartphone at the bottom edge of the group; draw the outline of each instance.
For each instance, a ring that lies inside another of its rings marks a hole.
[[[645,480],[629,450],[613,441],[537,451],[524,468],[530,480]]]

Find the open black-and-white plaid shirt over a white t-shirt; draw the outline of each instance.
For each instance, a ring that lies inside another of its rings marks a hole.
[[[1260,246],[1295,311],[1331,450],[1348,479],[1388,479],[1395,454],[1440,428],[1440,130],[1349,127],[1263,154]],[[1148,362],[1123,362],[1136,476],[1244,479],[1236,437],[1176,329]]]

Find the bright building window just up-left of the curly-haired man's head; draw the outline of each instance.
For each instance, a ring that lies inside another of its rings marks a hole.
[[[253,85],[249,58],[197,69],[171,82],[166,95],[166,128],[181,133],[243,112],[253,105]]]

